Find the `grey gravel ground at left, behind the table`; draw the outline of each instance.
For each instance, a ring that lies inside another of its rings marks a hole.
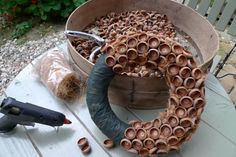
[[[8,40],[0,47],[0,95],[16,75],[43,52],[65,42],[62,31],[39,40],[18,45],[16,40]]]

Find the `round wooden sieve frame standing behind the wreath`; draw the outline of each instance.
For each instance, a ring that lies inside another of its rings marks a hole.
[[[82,31],[95,18],[110,12],[156,10],[167,17],[178,29],[193,40],[203,62],[199,67],[207,72],[218,50],[218,35],[212,25],[189,7],[171,0],[91,0],[78,7],[68,18],[66,30]],[[68,50],[78,73],[86,79],[93,63],[83,58],[68,39]],[[163,78],[134,78],[116,76],[111,82],[109,100],[112,104],[136,109],[163,108],[167,103],[168,87]]]

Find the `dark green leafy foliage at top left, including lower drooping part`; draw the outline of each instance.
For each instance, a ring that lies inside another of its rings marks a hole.
[[[63,20],[85,1],[87,0],[0,0],[0,16],[17,23],[12,37],[18,38],[30,30],[35,21]]]

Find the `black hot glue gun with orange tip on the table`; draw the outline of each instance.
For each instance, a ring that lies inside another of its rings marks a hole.
[[[4,114],[0,118],[0,133],[13,130],[17,124],[34,126],[35,123],[40,123],[53,127],[71,124],[71,121],[60,112],[23,103],[11,97],[5,98],[0,103],[0,112]]]

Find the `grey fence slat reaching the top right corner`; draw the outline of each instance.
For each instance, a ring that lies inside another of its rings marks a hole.
[[[216,29],[224,31],[236,9],[236,1],[229,0],[224,8],[220,20],[216,23]]]

